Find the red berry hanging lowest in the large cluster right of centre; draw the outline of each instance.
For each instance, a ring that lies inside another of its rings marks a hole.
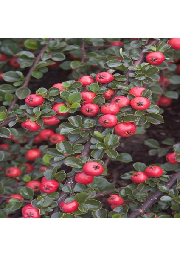
[[[115,126],[115,133],[121,137],[132,136],[136,131],[134,122],[122,122]]]

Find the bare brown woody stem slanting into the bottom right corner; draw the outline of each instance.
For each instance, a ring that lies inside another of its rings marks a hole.
[[[171,179],[169,180],[169,182],[167,183],[166,188],[171,189],[172,186],[175,185],[177,178],[179,178],[179,177],[180,177],[180,171],[174,173],[171,176]],[[163,194],[164,193],[162,191],[158,190],[157,192],[155,192],[154,195],[148,197],[146,202],[141,207],[139,207],[137,210],[132,212],[127,218],[137,218],[139,215],[145,213],[147,209],[149,209],[150,207],[152,207],[153,204],[155,204],[156,202],[159,201],[160,197]]]

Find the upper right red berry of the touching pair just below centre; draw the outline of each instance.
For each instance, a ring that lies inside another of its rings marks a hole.
[[[98,176],[104,172],[103,166],[98,162],[87,162],[84,164],[82,171],[87,175]]]

